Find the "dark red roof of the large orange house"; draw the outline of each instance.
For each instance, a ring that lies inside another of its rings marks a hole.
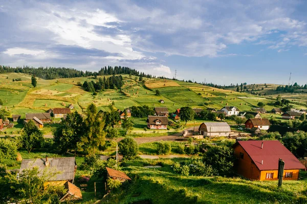
[[[261,148],[262,143],[263,148]],[[278,170],[279,158],[284,161],[284,169],[305,168],[304,165],[302,165],[298,159],[277,140],[237,141],[234,146],[238,144],[248,153],[260,171]]]

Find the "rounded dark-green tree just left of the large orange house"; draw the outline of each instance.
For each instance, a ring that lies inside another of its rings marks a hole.
[[[203,162],[212,166],[217,175],[228,175],[234,162],[233,149],[225,145],[210,146],[204,154]]]

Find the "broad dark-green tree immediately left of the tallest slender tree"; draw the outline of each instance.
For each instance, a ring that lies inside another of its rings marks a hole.
[[[83,118],[77,111],[68,114],[65,120],[54,132],[54,142],[61,152],[67,152],[70,149],[77,151],[78,143],[84,135]]]

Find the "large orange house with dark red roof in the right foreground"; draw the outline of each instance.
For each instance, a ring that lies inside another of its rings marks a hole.
[[[279,141],[237,141],[233,149],[235,171],[252,180],[277,180],[279,158],[284,161],[284,180],[297,180],[305,168]]]

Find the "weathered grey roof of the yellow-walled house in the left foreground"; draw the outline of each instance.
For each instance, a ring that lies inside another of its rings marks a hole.
[[[23,160],[21,162],[19,173],[22,173],[25,169],[38,167],[40,175],[43,170],[50,168],[53,172],[60,172],[55,177],[50,178],[49,181],[53,180],[73,180],[75,177],[75,157],[58,157],[48,158],[49,166],[46,166],[46,158],[34,158],[30,160]]]

